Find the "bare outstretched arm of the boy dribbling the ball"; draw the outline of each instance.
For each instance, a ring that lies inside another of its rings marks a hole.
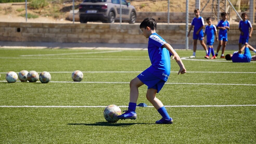
[[[167,48],[169,51],[170,51],[170,53],[172,53],[172,60],[173,59],[175,59],[175,61],[178,63],[178,65],[179,65],[179,67],[180,67],[180,70],[179,70],[179,72],[178,72],[178,75],[181,73],[181,74],[184,74],[184,73],[186,73],[186,69],[185,69],[185,66],[184,66],[184,64],[182,63],[182,61],[181,61],[181,58],[180,58],[180,56],[176,53],[176,51],[172,48],[172,46],[169,44],[169,43],[165,43],[164,45],[163,45],[163,47],[165,47],[165,48]]]

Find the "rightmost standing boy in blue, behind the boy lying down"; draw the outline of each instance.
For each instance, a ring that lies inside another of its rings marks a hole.
[[[241,32],[239,38],[239,50],[242,48],[242,44],[248,43],[249,38],[252,37],[252,24],[247,20],[247,13],[242,13],[242,21],[239,22],[239,31]],[[249,32],[249,28],[251,28]]]

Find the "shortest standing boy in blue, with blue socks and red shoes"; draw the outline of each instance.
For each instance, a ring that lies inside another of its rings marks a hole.
[[[208,23],[208,25],[205,27],[204,37],[207,35],[207,45],[209,45],[209,48],[208,54],[205,56],[205,58],[209,59],[210,53],[212,53],[213,57],[211,57],[211,59],[214,59],[217,58],[213,50],[214,34],[216,35],[216,41],[218,41],[217,29],[215,25],[212,24],[212,18],[208,17],[206,19],[206,22]]]

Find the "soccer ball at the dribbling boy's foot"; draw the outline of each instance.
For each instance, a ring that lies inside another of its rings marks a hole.
[[[107,106],[103,112],[104,118],[108,122],[117,122],[119,120],[117,116],[121,114],[122,114],[121,109],[114,104]]]

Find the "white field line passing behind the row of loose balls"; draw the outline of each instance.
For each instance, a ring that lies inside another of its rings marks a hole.
[[[142,71],[82,71],[82,73],[141,73]],[[16,72],[17,74],[19,72]],[[73,71],[49,71],[49,73],[73,73]],[[171,73],[178,73],[178,71],[171,71]],[[233,73],[233,74],[256,74],[256,72],[236,72],[236,71],[187,71],[187,73]],[[7,74],[7,72],[0,72],[0,74]]]

